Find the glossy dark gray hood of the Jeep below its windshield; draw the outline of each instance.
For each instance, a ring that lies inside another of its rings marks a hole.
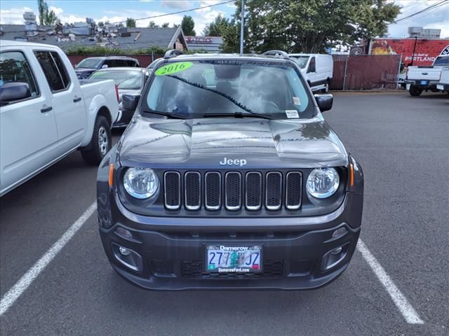
[[[235,167],[234,162],[240,167],[246,162],[245,168],[336,167],[348,160],[340,139],[320,118],[138,116],[123,134],[119,152],[123,166],[175,169],[229,168]],[[233,165],[220,164],[227,160],[233,160]]]

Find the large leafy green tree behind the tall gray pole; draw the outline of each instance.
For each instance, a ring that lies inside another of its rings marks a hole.
[[[254,52],[323,52],[383,35],[401,7],[388,0],[246,0],[245,47]],[[240,0],[234,20],[240,24]],[[225,38],[232,45],[235,34]],[[234,50],[235,51],[235,50]]]

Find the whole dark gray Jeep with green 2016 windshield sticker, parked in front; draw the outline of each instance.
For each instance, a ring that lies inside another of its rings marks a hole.
[[[112,267],[148,289],[307,289],[360,234],[363,173],[285,52],[169,51],[98,169]]]

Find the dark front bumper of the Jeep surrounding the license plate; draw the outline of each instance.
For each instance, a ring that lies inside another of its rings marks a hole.
[[[130,213],[116,195],[111,198],[112,226],[100,227],[109,262],[131,283],[157,290],[324,286],[349,265],[363,203],[362,195],[348,193],[339,209],[313,218],[153,218]],[[119,228],[132,237],[119,235]],[[332,237],[339,228],[346,233]],[[203,267],[206,244],[262,245],[263,273],[208,273]],[[123,258],[119,246],[133,251],[131,257]],[[339,254],[330,253],[340,247]]]

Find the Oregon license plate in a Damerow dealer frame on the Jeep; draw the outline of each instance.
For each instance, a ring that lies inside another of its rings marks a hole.
[[[262,246],[206,246],[206,272],[262,272]]]

